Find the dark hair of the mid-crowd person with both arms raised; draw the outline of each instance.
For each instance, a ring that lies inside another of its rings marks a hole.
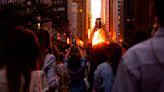
[[[68,68],[71,71],[77,71],[80,68],[80,54],[78,49],[73,46],[69,54]]]

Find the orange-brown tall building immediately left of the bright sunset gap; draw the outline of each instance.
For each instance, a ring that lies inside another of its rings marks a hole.
[[[71,37],[87,41],[87,0],[68,0],[68,19]]]

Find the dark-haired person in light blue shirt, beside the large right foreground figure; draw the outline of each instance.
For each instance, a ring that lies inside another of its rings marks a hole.
[[[102,55],[106,56],[107,60],[98,65],[94,72],[94,92],[111,92],[117,66],[122,56],[122,48],[117,43],[110,43],[109,46],[104,46],[105,49],[107,52],[103,51]]]

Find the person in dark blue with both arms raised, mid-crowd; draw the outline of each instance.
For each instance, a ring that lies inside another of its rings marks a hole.
[[[84,74],[86,59],[80,47],[69,48],[64,63],[68,68],[70,76],[70,92],[85,92]]]

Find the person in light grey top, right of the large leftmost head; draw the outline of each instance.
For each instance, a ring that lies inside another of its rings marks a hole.
[[[45,29],[39,29],[36,31],[36,36],[40,45],[39,61],[41,63],[38,67],[43,66],[50,91],[54,92],[59,86],[59,79],[55,71],[56,58],[50,51],[52,48],[51,34]]]

